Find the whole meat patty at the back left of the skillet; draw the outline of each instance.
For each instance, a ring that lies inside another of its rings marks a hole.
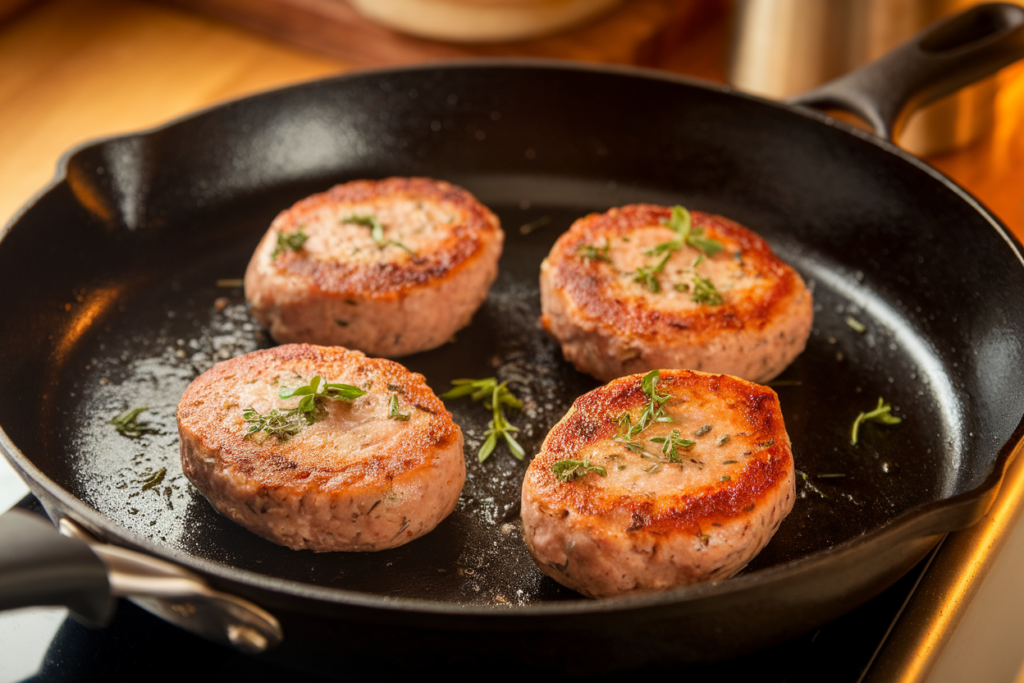
[[[503,242],[498,218],[461,187],[356,180],[273,220],[246,270],[246,298],[278,342],[402,356],[469,324]]]

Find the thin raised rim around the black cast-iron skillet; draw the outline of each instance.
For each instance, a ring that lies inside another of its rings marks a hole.
[[[539,72],[559,71],[566,73],[589,73],[600,76],[625,76],[647,81],[663,81],[674,85],[698,88],[701,90],[711,90],[721,94],[739,97],[760,105],[768,105],[775,108],[776,110],[783,110],[788,114],[803,117],[805,120],[809,120],[816,124],[837,128],[845,133],[853,135],[862,142],[873,144],[889,154],[895,155],[903,162],[909,163],[910,166],[914,167],[918,171],[922,171],[927,175],[930,175],[933,179],[938,180],[946,189],[951,190],[961,200],[967,202],[969,206],[971,206],[989,223],[992,228],[995,229],[996,233],[1002,238],[1004,242],[1007,243],[1011,253],[1016,256],[1018,262],[1022,267],[1024,267],[1024,253],[1022,253],[1021,244],[1017,241],[1013,232],[1011,232],[1010,229],[1004,225],[1002,222],[994,214],[992,214],[992,212],[989,211],[981,201],[921,159],[918,159],[909,153],[899,148],[893,142],[878,137],[869,131],[865,131],[844,121],[835,119],[817,110],[767,99],[765,97],[735,90],[726,84],[719,84],[693,77],[680,76],[642,67],[624,65],[594,65],[526,57],[482,57],[472,59],[442,60],[425,65],[353,70],[337,76],[304,81],[302,83],[264,90],[236,99],[228,99],[189,112],[163,124],[142,130],[85,140],[73,145],[61,155],[61,157],[57,160],[54,175],[51,180],[35,193],[28,202],[20,206],[11,218],[4,224],[4,226],[0,228],[0,241],[3,241],[3,239],[22,219],[22,217],[28,213],[28,211],[31,210],[42,198],[47,196],[60,183],[67,181],[68,167],[71,159],[75,155],[87,148],[99,147],[114,141],[132,138],[145,138],[179,124],[205,117],[229,106],[242,106],[245,105],[246,102],[257,98],[286,93],[292,90],[302,90],[322,84],[375,78],[391,74],[484,69],[518,69]],[[531,603],[514,606],[458,604],[453,602],[427,600],[423,598],[392,598],[339,588],[325,588],[293,580],[278,579],[248,569],[234,567],[229,564],[189,555],[177,549],[166,547],[155,543],[150,539],[137,536],[134,531],[120,526],[113,519],[91,508],[83,501],[72,495],[69,490],[59,486],[56,482],[39,470],[33,462],[25,456],[25,454],[23,454],[17,446],[14,445],[2,425],[0,425],[0,453],[3,453],[14,469],[22,475],[23,479],[26,479],[26,483],[34,494],[36,493],[37,487],[45,492],[47,496],[55,499],[62,507],[61,512],[68,513],[73,519],[85,522],[86,526],[90,529],[98,530],[100,532],[99,537],[103,542],[112,543],[117,541],[121,545],[140,549],[147,554],[175,562],[180,566],[191,569],[200,574],[215,578],[221,582],[227,582],[228,584],[236,583],[243,586],[266,590],[276,595],[311,599],[318,602],[349,607],[370,607],[377,610],[417,612],[436,616],[457,615],[503,617],[507,615],[507,617],[517,616],[528,618],[535,615],[537,617],[550,615],[579,616],[592,613],[641,610],[652,606],[696,602],[697,600],[715,598],[727,594],[740,594],[759,587],[785,584],[787,581],[796,580],[801,575],[815,575],[819,567],[827,568],[825,565],[835,564],[837,562],[842,563],[845,557],[854,555],[862,546],[869,546],[876,543],[881,544],[886,539],[891,538],[892,542],[898,542],[897,545],[899,545],[912,540],[925,539],[930,536],[938,537],[948,531],[970,526],[976,523],[988,510],[995,494],[998,492],[1007,467],[1016,457],[1017,452],[1024,450],[1022,437],[1024,437],[1024,414],[1022,414],[1021,419],[1018,421],[1017,427],[1011,434],[1010,439],[1006,441],[996,453],[992,462],[991,472],[989,472],[984,481],[982,481],[975,488],[951,498],[940,501],[931,501],[912,507],[860,537],[850,539],[846,542],[833,546],[831,548],[826,548],[800,559],[761,569],[754,573],[733,577],[727,581],[715,584],[683,587],[662,593],[620,596],[613,598],[603,598],[601,600],[588,600],[580,598],[573,600]],[[945,519],[945,517],[949,517],[949,519]],[[933,523],[929,524],[928,522],[930,521]],[[906,538],[901,539],[902,536],[905,536]],[[510,621],[507,617],[502,621]]]

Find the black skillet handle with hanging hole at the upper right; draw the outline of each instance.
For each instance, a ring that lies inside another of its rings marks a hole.
[[[920,106],[1024,57],[1024,7],[978,5],[937,22],[879,59],[787,101],[838,109],[892,141]]]

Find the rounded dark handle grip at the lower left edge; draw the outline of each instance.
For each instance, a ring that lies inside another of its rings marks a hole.
[[[0,515],[0,610],[63,605],[81,621],[102,626],[116,605],[106,565],[78,539],[68,539],[38,515]]]

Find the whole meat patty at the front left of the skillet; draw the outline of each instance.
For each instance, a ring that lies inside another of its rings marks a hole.
[[[295,408],[300,398],[280,398],[281,388],[317,375],[367,393],[318,399],[318,419],[294,435],[248,434],[246,409]],[[217,364],[185,391],[177,420],[196,487],[222,514],[295,550],[400,546],[452,512],[466,478],[462,432],[423,376],[340,347],[290,344]]]

